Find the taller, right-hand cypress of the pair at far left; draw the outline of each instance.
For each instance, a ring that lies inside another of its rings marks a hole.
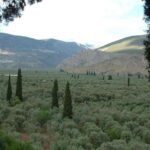
[[[18,76],[17,76],[17,84],[16,84],[16,96],[23,101],[22,98],[22,75],[21,75],[21,69],[18,69]]]

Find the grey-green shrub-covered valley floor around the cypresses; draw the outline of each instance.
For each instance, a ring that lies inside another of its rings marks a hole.
[[[0,71],[0,128],[35,150],[150,150],[150,83],[146,78],[80,75],[57,71],[23,71],[24,102],[6,101],[8,74],[15,99],[17,71]],[[59,109],[51,109],[54,79]],[[62,119],[66,82],[73,100],[73,119]],[[0,136],[1,141],[1,136]],[[19,150],[19,149],[12,149]]]

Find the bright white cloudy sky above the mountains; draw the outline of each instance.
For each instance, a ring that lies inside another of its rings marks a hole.
[[[43,0],[0,32],[102,46],[145,34],[142,0]]]

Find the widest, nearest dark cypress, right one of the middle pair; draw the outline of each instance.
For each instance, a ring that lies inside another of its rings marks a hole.
[[[68,118],[71,119],[72,116],[73,116],[73,112],[72,112],[72,98],[71,98],[69,82],[67,82],[66,89],[65,89],[63,118],[68,117]]]

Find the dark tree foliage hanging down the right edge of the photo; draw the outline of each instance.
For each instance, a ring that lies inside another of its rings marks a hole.
[[[147,59],[147,71],[148,71],[148,80],[150,82],[150,0],[144,0],[144,19],[147,23],[147,38],[144,41],[145,45],[145,58]]]

